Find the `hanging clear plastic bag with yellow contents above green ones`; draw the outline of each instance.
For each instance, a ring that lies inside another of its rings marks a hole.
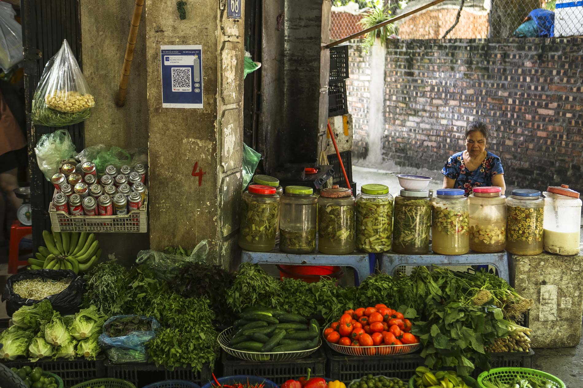
[[[34,91],[31,119],[34,124],[62,127],[89,118],[93,95],[66,40],[44,67]]]

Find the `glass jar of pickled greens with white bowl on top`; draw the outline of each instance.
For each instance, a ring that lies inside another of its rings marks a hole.
[[[427,190],[401,190],[395,197],[392,250],[402,254],[429,252],[431,200]]]

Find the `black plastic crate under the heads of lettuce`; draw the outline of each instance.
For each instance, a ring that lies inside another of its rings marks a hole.
[[[22,368],[22,366],[26,365],[31,368],[40,366],[43,368],[43,371],[55,373],[55,375],[63,379],[65,388],[69,388],[87,380],[106,378],[107,373],[103,362],[104,359],[90,361],[85,358],[72,360],[59,358],[54,361],[52,359],[39,359],[37,362],[30,362],[28,359],[23,358],[3,362],[3,364],[8,366],[8,368],[12,368],[13,366]]]

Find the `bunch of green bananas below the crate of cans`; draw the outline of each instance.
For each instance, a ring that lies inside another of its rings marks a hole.
[[[87,272],[101,257],[99,241],[93,233],[43,231],[46,247],[39,247],[29,259],[29,269],[69,269]]]

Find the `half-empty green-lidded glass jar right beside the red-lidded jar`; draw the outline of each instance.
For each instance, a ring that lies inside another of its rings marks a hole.
[[[286,253],[311,253],[316,249],[316,209],[314,190],[287,186],[281,198],[279,250]]]

